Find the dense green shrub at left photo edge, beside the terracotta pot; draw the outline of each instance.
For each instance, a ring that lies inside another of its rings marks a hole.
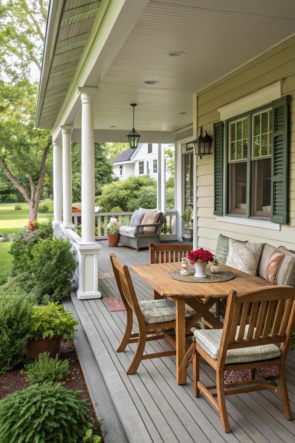
[[[26,296],[0,293],[0,373],[23,361],[31,319],[32,307]]]

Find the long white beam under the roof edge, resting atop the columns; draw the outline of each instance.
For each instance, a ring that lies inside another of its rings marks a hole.
[[[147,4],[148,0],[102,0],[88,42],[51,130],[54,140],[59,136],[61,125],[74,124],[77,118],[81,107],[78,87],[97,87],[100,84]]]

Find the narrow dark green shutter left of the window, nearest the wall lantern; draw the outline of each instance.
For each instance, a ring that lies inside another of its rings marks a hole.
[[[223,204],[223,122],[213,125],[214,132],[214,212],[222,215]]]

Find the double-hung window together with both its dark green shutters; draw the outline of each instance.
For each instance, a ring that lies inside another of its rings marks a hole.
[[[214,214],[288,222],[288,102],[214,124]]]

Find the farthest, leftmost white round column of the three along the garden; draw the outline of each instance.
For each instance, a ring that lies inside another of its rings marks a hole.
[[[62,222],[62,186],[61,186],[61,140],[53,140],[53,229],[61,237],[59,225]]]

